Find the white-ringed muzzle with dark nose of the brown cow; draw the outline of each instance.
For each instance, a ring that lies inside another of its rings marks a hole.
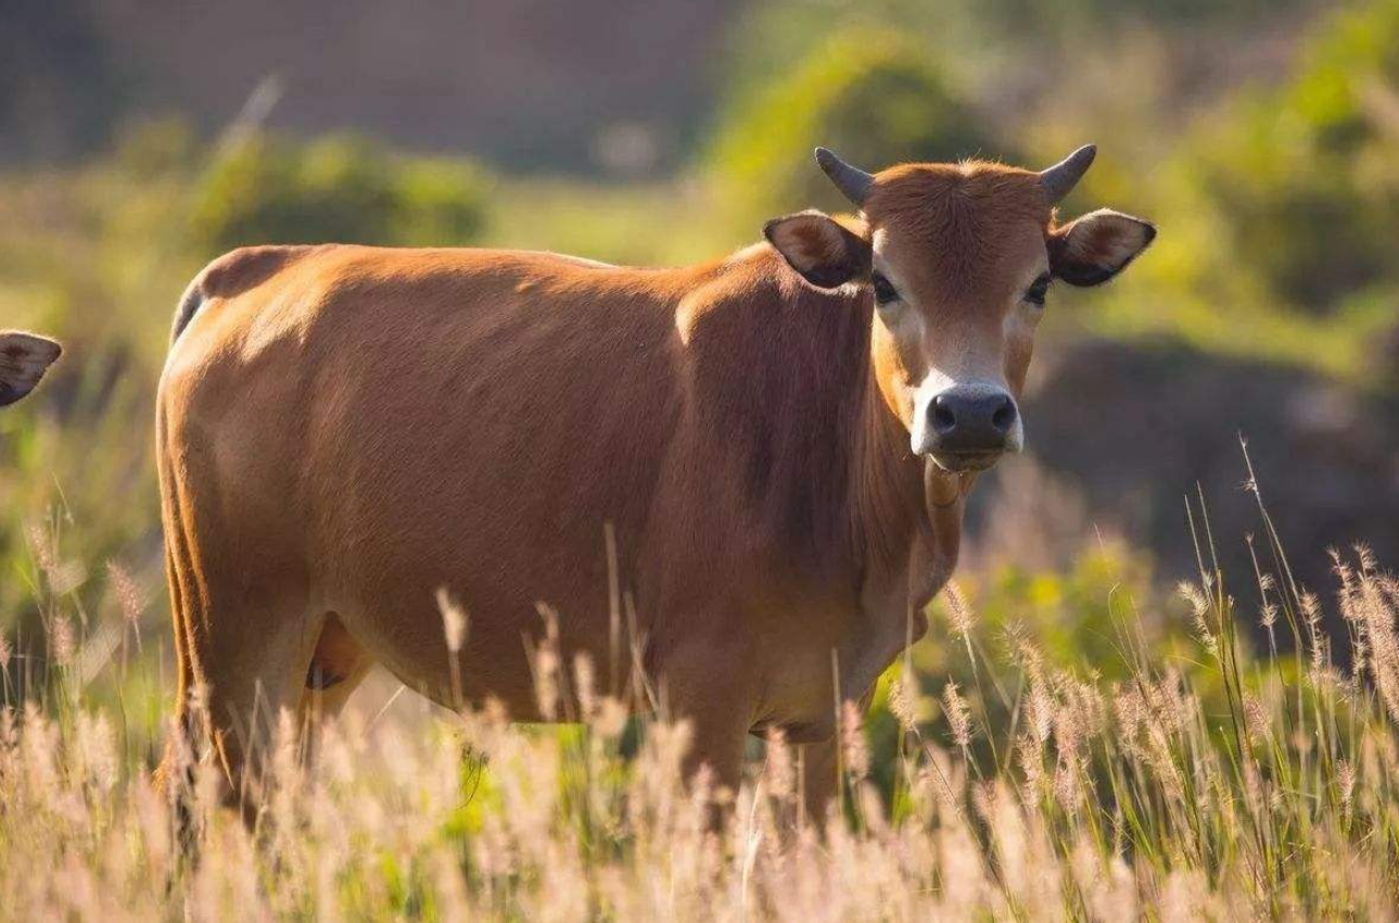
[[[983,471],[1004,452],[1020,451],[1020,409],[1002,388],[957,385],[933,395],[918,412],[914,452],[946,471]]]

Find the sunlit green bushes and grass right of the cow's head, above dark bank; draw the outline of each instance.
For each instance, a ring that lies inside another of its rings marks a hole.
[[[1179,116],[1177,132],[1150,134],[1154,164],[1142,162],[1147,148],[1126,174],[1101,157],[1079,200],[1140,210],[1161,235],[1132,273],[1086,294],[1087,326],[1389,388],[1396,49],[1399,1],[1332,13],[1300,34],[1287,76],[1245,83]]]

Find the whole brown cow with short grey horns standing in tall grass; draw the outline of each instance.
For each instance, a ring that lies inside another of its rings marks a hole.
[[[733,784],[783,728],[827,797],[835,703],[923,633],[975,472],[1021,445],[1051,280],[1101,283],[1154,230],[1055,220],[1091,147],[1038,174],[817,157],[859,217],[684,269],[327,245],[200,273],[159,469],[183,727],[200,688],[235,786],[253,728],[336,712],[372,664],[551,717],[543,602],[565,664],[691,723],[691,768]]]

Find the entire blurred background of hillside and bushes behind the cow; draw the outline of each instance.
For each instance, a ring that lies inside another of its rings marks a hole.
[[[1329,545],[1399,559],[1399,0],[11,0],[0,17],[0,319],[69,347],[0,416],[0,626],[36,623],[45,560],[87,562],[64,587],[94,612],[108,560],[164,605],[151,403],[175,300],[218,252],[691,262],[774,214],[841,207],[818,143],[867,168],[1038,167],[1091,140],[1065,213],[1161,228],[1121,282],[1051,294],[1035,457],[983,492],[983,569],[1066,567],[1118,532],[1184,576],[1196,483],[1247,567],[1262,527],[1240,433],[1309,585],[1329,585]]]

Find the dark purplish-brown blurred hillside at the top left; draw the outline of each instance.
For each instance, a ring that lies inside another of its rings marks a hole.
[[[512,164],[673,158],[736,0],[7,0],[0,157],[90,153],[143,113],[221,127],[264,77],[270,119]],[[613,147],[646,147],[620,150]],[[628,161],[631,162],[631,161]]]

